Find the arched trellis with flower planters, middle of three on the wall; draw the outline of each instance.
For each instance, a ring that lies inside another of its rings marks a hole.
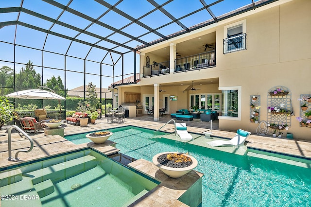
[[[277,125],[291,125],[293,115],[292,94],[285,86],[274,86],[267,94],[268,121]]]

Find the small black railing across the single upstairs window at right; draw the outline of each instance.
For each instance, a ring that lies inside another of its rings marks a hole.
[[[224,54],[241,50],[246,50],[246,34],[224,39]]]

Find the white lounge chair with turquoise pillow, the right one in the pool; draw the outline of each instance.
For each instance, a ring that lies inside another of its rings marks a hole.
[[[234,138],[225,141],[225,140],[214,140],[209,141],[207,144],[209,144],[212,147],[218,147],[218,146],[243,146],[246,138],[250,135],[250,132],[244,131],[242,129],[238,129],[237,134],[234,136]]]

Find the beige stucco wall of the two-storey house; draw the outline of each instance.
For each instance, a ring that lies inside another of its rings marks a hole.
[[[256,11],[229,18],[187,36],[183,35],[177,38],[178,40],[172,39],[159,43],[155,49],[161,45],[168,46],[180,39],[186,41],[216,31],[216,67],[141,78],[141,94],[152,94],[154,84],[219,78],[219,87],[242,87],[241,121],[220,119],[219,127],[226,130],[243,128],[255,133],[258,124],[249,122],[250,95],[260,95],[260,120],[269,121],[267,120],[268,91],[274,86],[285,86],[291,91],[294,109],[289,131],[295,138],[311,140],[311,129],[299,127],[299,122],[295,119],[300,115],[300,103],[297,99],[300,94],[309,94],[311,91],[311,0],[276,1],[269,7],[271,8],[260,7]],[[246,20],[247,50],[223,54],[225,25],[241,20]],[[152,50],[153,47],[149,47],[143,52]],[[148,88],[144,89],[145,86]],[[202,94],[205,93],[205,89],[207,92],[218,91],[218,86],[195,87],[203,88],[196,91]],[[183,92],[184,89],[176,87],[165,88],[166,92],[160,93],[160,95],[165,93],[178,96],[177,102],[170,102],[170,112],[189,107],[189,94],[192,91]]]

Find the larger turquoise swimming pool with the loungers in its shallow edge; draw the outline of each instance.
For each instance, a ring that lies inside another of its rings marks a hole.
[[[204,173],[202,206],[311,206],[311,167],[289,165],[249,155],[235,155],[154,136],[138,127],[111,129],[122,154],[152,162],[165,151],[188,152]],[[73,142],[85,134],[65,137]],[[84,142],[89,142],[85,140]],[[82,142],[83,143],[83,142]]]

